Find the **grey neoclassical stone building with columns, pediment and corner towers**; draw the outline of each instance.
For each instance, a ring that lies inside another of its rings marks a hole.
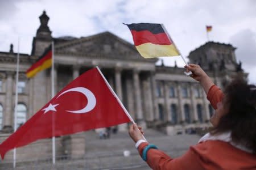
[[[176,65],[156,66],[158,59],[144,59],[129,42],[110,32],[89,37],[52,37],[49,17],[44,11],[40,27],[32,41],[31,54],[20,54],[17,125],[24,124],[51,99],[51,73],[44,70],[26,78],[26,70],[55,43],[55,89],[60,91],[80,74],[99,66],[131,116],[145,128],[167,134],[186,129],[206,128],[213,114],[200,84],[183,74]],[[243,74],[230,44],[207,42],[189,53],[189,61],[198,63],[213,81],[224,87],[237,74]],[[15,78],[17,53],[0,52],[0,130],[10,133],[14,127]],[[118,126],[125,130],[127,125]]]

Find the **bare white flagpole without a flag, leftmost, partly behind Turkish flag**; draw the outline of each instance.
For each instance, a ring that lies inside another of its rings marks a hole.
[[[18,36],[18,52],[16,63],[16,87],[15,87],[15,109],[14,109],[14,132],[17,129],[17,105],[18,105],[18,82],[19,82],[19,36]],[[13,151],[13,167],[16,167],[16,148]]]

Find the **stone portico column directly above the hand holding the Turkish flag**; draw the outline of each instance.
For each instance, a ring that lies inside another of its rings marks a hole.
[[[142,114],[142,102],[141,102],[141,86],[139,84],[139,71],[133,70],[133,83],[134,83],[134,91],[135,91],[135,114],[137,115],[137,122],[142,128],[146,128],[146,124],[143,120]],[[144,126],[144,127],[143,127]]]

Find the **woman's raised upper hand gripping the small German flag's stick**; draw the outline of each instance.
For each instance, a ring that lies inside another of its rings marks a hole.
[[[204,72],[203,69],[201,69],[199,65],[189,64],[188,66],[185,65],[184,67],[187,69],[187,72],[191,71],[193,73],[191,77],[199,82],[208,77],[208,75]]]

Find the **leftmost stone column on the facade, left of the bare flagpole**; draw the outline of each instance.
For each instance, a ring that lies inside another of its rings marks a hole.
[[[10,133],[13,131],[12,118],[14,114],[14,105],[13,105],[13,72],[7,71],[7,80],[6,80],[6,95],[5,95],[5,108],[3,115],[3,132]]]

